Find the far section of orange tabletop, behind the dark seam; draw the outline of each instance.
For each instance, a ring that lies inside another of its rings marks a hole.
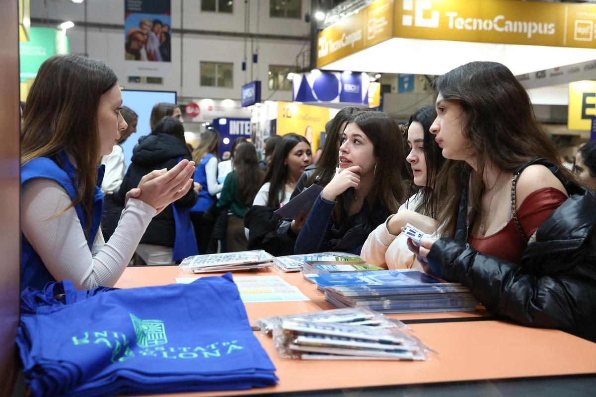
[[[117,288],[144,287],[150,285],[166,285],[175,283],[176,277],[209,277],[221,276],[223,273],[184,273],[178,266],[138,266],[128,267],[116,283]],[[316,285],[306,281],[301,272],[284,273],[275,268],[262,268],[254,271],[234,272],[234,277],[244,276],[280,276],[290,285],[297,286],[310,301],[299,302],[247,302],[245,304],[247,315],[250,320],[272,315],[297,314],[308,311],[319,311],[334,309],[335,307],[325,301],[322,292],[316,289]],[[478,310],[474,312],[431,312],[431,313],[404,313],[390,314],[389,317],[399,320],[440,320],[451,318],[479,319],[489,317],[489,312]]]

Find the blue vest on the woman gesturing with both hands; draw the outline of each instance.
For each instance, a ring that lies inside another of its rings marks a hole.
[[[76,187],[76,170],[72,163],[66,157],[64,152],[57,155],[60,159],[61,166],[51,158],[38,157],[27,162],[21,166],[21,186],[28,180],[36,178],[51,179],[62,186],[68,193],[70,199],[75,201],[77,196]],[[89,229],[89,236],[87,243],[89,249],[93,246],[95,236],[100,229],[101,212],[103,211],[104,196],[101,193],[101,182],[104,179],[105,165],[100,165],[97,171],[97,185],[95,186],[95,195],[93,198],[93,211],[91,228]],[[85,216],[83,215],[83,208],[80,204],[75,205],[77,217],[83,230],[85,229]],[[46,269],[44,262],[41,260],[33,246],[27,241],[26,237],[21,233],[21,290],[26,287],[34,287],[42,289],[46,283],[56,281],[48,269]]]

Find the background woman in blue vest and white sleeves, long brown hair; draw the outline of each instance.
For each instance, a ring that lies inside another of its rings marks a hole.
[[[190,214],[199,254],[206,254],[214,224],[213,218],[206,217],[205,212],[215,204],[216,195],[224,186],[223,183],[218,183],[218,155],[219,132],[216,129],[207,129],[201,134],[201,142],[193,152],[193,160],[197,164],[193,179],[202,186],[197,204],[191,208]]]

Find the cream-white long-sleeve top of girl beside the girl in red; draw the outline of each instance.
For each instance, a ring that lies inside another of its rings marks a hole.
[[[418,207],[421,199],[422,193],[416,193],[399,207],[398,212],[406,209],[414,210]],[[390,215],[384,223],[381,223],[368,235],[360,256],[368,263],[389,269],[414,268],[424,271],[415,255],[408,249],[408,237],[401,233],[397,236],[389,233],[387,223],[393,216]],[[432,237],[435,235],[436,232]]]

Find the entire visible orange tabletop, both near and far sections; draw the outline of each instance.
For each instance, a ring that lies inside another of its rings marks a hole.
[[[298,286],[311,301],[247,303],[250,319],[333,308],[316,286],[300,273],[275,269],[241,276],[279,275]],[[202,274],[201,276],[209,276]],[[127,268],[116,287],[164,285],[174,277],[193,277],[177,267]],[[483,379],[596,374],[596,343],[558,330],[518,326],[505,321],[457,321],[453,318],[486,316],[477,313],[427,313],[417,318],[443,318],[448,322],[410,324],[414,335],[437,351],[430,361],[311,361],[281,358],[269,336],[255,335],[271,358],[280,378],[273,387],[228,392],[179,393],[176,396],[229,396],[261,393],[307,392],[357,387],[416,385]],[[411,314],[392,315],[411,318]]]

